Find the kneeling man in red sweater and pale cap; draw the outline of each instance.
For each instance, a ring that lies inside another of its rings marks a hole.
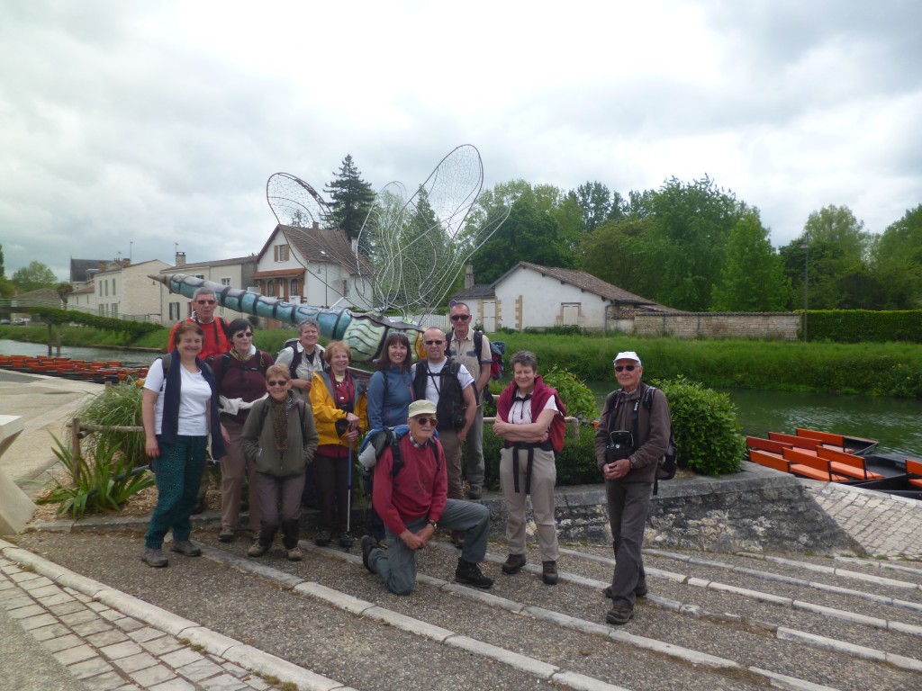
[[[384,580],[387,590],[408,595],[416,583],[416,550],[429,542],[439,525],[465,535],[455,581],[490,588],[480,571],[487,554],[490,510],[482,504],[448,498],[448,475],[442,444],[433,439],[439,421],[435,404],[425,399],[409,405],[409,431],[397,444],[399,459],[384,449],[374,466],[374,509],[384,521],[382,549],[371,535],[361,538],[361,560]]]

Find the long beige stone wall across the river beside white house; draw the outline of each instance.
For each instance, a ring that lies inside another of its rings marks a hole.
[[[637,312],[634,315],[634,333],[644,336],[776,338],[796,341],[799,329],[798,312]]]

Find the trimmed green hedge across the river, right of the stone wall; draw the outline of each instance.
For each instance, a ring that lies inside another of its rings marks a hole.
[[[922,310],[810,310],[810,341],[922,343]]]

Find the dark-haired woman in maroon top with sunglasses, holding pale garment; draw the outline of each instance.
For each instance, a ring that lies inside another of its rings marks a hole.
[[[212,367],[221,402],[221,436],[227,455],[221,459],[221,530],[218,539],[232,542],[240,521],[243,478],[253,486],[254,468],[247,467],[240,437],[253,404],[266,397],[266,369],[272,356],[253,345],[253,324],[235,319],[229,327],[231,350],[216,357]],[[245,474],[245,475],[244,475]],[[250,530],[259,532],[259,498],[250,496]]]

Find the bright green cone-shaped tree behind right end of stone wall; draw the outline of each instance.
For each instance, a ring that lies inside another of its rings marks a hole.
[[[786,310],[791,282],[756,212],[741,217],[727,239],[727,261],[713,291],[713,310]]]

